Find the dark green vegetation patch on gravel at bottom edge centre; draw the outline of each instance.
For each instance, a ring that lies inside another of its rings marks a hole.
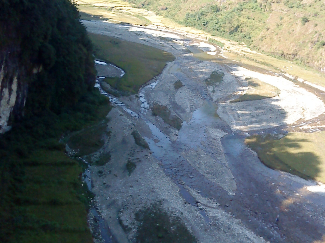
[[[177,216],[170,215],[159,204],[136,213],[139,228],[136,242],[141,243],[195,243],[197,239]]]

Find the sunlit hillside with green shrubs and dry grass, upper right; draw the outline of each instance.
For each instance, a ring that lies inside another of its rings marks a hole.
[[[128,0],[181,24],[325,72],[324,0]]]

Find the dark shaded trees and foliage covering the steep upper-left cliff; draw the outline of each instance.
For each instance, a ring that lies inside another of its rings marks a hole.
[[[94,86],[91,42],[69,0],[0,1],[0,52],[18,62],[29,82],[26,114],[56,113]],[[35,68],[41,72],[32,75]]]

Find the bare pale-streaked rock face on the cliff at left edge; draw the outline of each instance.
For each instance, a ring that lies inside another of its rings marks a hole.
[[[10,130],[13,119],[23,116],[28,83],[25,68],[19,67],[16,58],[0,53],[0,133]]]

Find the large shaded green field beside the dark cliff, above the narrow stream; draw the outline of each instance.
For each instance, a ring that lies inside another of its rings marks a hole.
[[[166,63],[175,59],[172,54],[147,45],[88,34],[95,46],[95,56],[125,71],[123,77],[106,81],[123,95],[136,94],[142,84],[161,73]]]

